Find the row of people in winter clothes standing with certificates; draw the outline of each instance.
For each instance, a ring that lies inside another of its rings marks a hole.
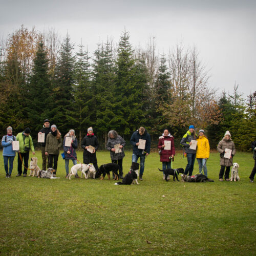
[[[27,176],[28,170],[28,160],[29,160],[29,151],[32,151],[32,154],[35,154],[34,145],[32,138],[30,136],[30,129],[26,128],[24,132],[18,133],[15,137],[12,134],[12,127],[7,127],[7,135],[2,138],[2,146],[4,147],[3,156],[4,156],[4,166],[6,171],[6,177],[10,178],[13,169],[13,161],[16,155],[16,152],[12,149],[12,142],[19,142],[19,151],[18,151],[18,167],[17,167],[17,177],[22,176],[22,165],[24,165],[23,176]],[[78,147],[78,141],[75,136],[75,131],[71,129],[64,137],[63,141],[61,139],[61,134],[57,129],[55,124],[50,126],[50,120],[44,120],[44,125],[38,134],[45,134],[45,141],[41,142],[41,156],[42,156],[42,169],[46,170],[47,168],[53,168],[53,176],[56,176],[58,156],[60,153],[60,148],[63,146],[63,159],[65,159],[65,169],[66,176],[69,174],[69,160],[72,160],[73,164],[77,164],[77,155],[76,149]],[[66,145],[66,138],[70,137],[71,145]],[[191,148],[193,140],[197,141],[197,146]],[[130,143],[133,145],[133,154],[132,162],[137,162],[140,158],[140,171],[139,179],[142,179],[145,166],[145,158],[150,154],[151,150],[151,137],[147,133],[144,127],[140,127],[137,131],[132,134]],[[207,177],[207,166],[206,162],[209,158],[210,147],[209,141],[204,133],[204,130],[199,131],[199,135],[196,134],[194,125],[190,125],[188,131],[185,133],[181,139],[180,144],[183,146],[184,155],[187,157],[187,165],[184,170],[185,175],[191,176],[194,170],[195,159],[197,158],[199,165],[199,173],[204,172],[204,175]],[[119,177],[123,178],[123,158],[124,154],[125,140],[118,135],[115,130],[111,130],[108,133],[108,142],[106,143],[106,149],[110,151],[110,158],[113,163],[119,165]],[[93,128],[89,127],[87,135],[83,137],[81,141],[81,147],[83,148],[83,163],[89,164],[92,163],[97,172],[99,172],[99,167],[97,164],[96,152],[99,148],[99,142],[97,137],[93,133]],[[254,175],[256,172],[256,140],[252,142],[252,148],[254,151],[254,168],[252,169],[250,175],[250,182],[253,182]],[[91,149],[91,150],[90,150]],[[159,137],[158,149],[160,154],[160,161],[162,162],[162,169],[166,170],[172,168],[172,162],[174,161],[175,156],[175,145],[174,137],[170,135],[168,129],[164,129],[163,134]],[[231,150],[231,155],[229,158],[225,158],[224,154],[226,149]],[[231,135],[227,131],[224,135],[224,138],[219,142],[217,151],[220,153],[220,173],[219,180],[223,181],[223,176],[226,181],[229,181],[230,166],[232,166],[232,160],[234,154],[236,154],[236,148],[234,142],[231,140]],[[9,168],[8,168],[9,162]],[[226,170],[225,170],[226,169]],[[224,175],[225,172],[225,175]],[[78,175],[75,175],[78,178]],[[165,177],[163,177],[164,179]],[[169,179],[169,177],[167,177]]]

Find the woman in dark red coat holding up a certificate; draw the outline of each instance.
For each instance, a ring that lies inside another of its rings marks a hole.
[[[170,135],[168,129],[164,129],[163,135],[159,137],[158,148],[160,150],[160,161],[162,169],[170,169],[170,162],[175,156],[174,137]],[[163,179],[165,176],[163,175]],[[169,179],[169,176],[167,177]]]

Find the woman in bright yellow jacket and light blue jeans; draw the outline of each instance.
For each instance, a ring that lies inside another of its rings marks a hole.
[[[197,154],[196,158],[199,165],[199,173],[202,173],[204,169],[204,175],[207,177],[207,167],[206,161],[210,155],[210,145],[207,137],[204,135],[204,130],[199,131],[199,136],[197,138]]]

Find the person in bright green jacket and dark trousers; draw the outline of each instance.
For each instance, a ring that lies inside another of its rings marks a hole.
[[[23,176],[27,176],[28,166],[29,166],[29,150],[31,149],[32,154],[35,155],[35,149],[33,145],[32,138],[30,136],[30,129],[27,127],[24,132],[18,133],[16,136],[17,141],[19,142],[19,151],[18,151],[18,176],[22,176],[22,161],[24,161],[24,171]]]

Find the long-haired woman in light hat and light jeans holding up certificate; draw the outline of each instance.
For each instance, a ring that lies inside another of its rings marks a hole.
[[[75,136],[75,130],[71,129],[63,139],[63,150],[65,154],[65,168],[66,168],[66,178],[69,174],[69,160],[73,161],[73,164],[77,164],[76,161],[76,149],[77,148],[77,138]],[[75,174],[76,178],[79,178],[77,174]]]

